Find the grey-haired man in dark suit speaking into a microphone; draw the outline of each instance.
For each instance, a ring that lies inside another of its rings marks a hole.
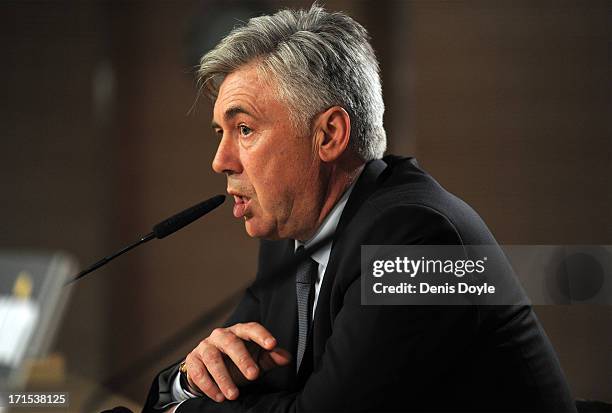
[[[413,159],[382,158],[362,26],[317,6],[254,18],[199,76],[215,102],[213,169],[265,241],[257,282],[160,373],[145,411],[575,410],[529,306],[361,304],[361,245],[496,245]],[[275,271],[303,246],[291,276]]]

